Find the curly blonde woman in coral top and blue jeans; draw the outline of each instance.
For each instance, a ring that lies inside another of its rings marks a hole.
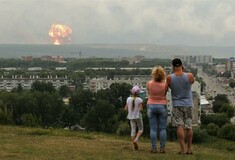
[[[166,74],[161,66],[152,70],[152,79],[147,82],[148,101],[147,114],[150,124],[151,153],[157,152],[157,133],[160,133],[160,153],[165,153],[167,122],[167,85]]]

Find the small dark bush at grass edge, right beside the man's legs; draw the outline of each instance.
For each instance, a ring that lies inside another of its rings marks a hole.
[[[209,138],[209,135],[205,129],[194,128],[193,129],[193,143],[203,143]]]

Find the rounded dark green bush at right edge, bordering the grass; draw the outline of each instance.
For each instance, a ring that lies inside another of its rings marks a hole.
[[[220,138],[235,141],[235,125],[225,124],[218,133]]]

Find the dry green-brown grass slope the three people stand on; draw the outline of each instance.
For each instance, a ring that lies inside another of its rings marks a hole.
[[[214,139],[193,145],[193,155],[178,155],[177,142],[167,142],[166,154],[150,154],[150,140],[142,138],[133,151],[129,137],[63,129],[0,126],[1,160],[221,160],[234,159],[235,143]]]

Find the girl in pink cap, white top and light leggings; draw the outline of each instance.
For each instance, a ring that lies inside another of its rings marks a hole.
[[[143,120],[140,111],[143,110],[143,100],[138,97],[140,88],[134,86],[131,89],[131,96],[127,98],[125,110],[128,111],[127,119],[130,120],[131,124],[131,142],[133,143],[133,149],[138,150],[138,140],[143,133]],[[136,126],[137,125],[137,126]],[[138,133],[136,135],[136,127],[138,127]]]

